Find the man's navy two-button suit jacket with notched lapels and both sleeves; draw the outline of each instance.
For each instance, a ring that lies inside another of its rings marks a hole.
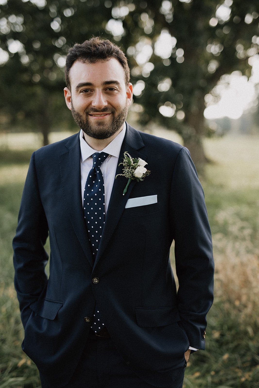
[[[50,385],[71,378],[96,301],[118,351],[150,384],[170,383],[189,344],[205,345],[214,266],[203,190],[189,151],[128,124],[119,162],[124,151],[144,159],[151,173],[132,181],[125,196],[127,179],[115,179],[95,262],[82,210],[78,133],[31,156],[13,241],[15,287],[23,350]],[[151,195],[157,203],[125,208],[129,198]],[[169,261],[173,239],[178,292]]]

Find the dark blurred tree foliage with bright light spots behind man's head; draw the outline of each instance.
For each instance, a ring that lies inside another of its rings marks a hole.
[[[249,58],[258,53],[258,0],[0,4],[3,126],[30,121],[42,131],[45,144],[57,123],[73,125],[57,90],[64,87],[65,55],[76,42],[101,35],[122,47],[129,58],[138,121],[176,129],[196,165],[206,159],[201,142],[207,133],[205,95],[223,74],[239,70],[249,76]]]

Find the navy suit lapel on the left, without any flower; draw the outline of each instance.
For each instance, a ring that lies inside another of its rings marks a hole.
[[[66,147],[68,151],[59,156],[64,201],[75,234],[92,267],[93,259],[82,207],[79,136],[77,135],[72,142],[70,140]]]

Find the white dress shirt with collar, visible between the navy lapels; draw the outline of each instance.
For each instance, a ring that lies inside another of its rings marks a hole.
[[[115,178],[116,168],[118,165],[118,159],[120,156],[120,149],[126,133],[126,124],[124,123],[122,131],[105,147],[102,152],[109,154],[108,158],[101,164],[101,171],[103,174],[104,182],[104,198],[105,198],[105,214],[107,213],[108,205],[110,202],[111,191],[113,188],[113,181]],[[80,149],[81,149],[81,191],[82,191],[82,204],[83,204],[83,192],[85,189],[85,182],[87,180],[89,171],[93,166],[92,154],[96,151],[87,144],[83,137],[83,131],[80,130]]]

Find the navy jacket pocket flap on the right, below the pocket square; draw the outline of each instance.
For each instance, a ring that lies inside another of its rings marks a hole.
[[[176,307],[135,308],[137,324],[140,327],[167,326],[181,320]]]

